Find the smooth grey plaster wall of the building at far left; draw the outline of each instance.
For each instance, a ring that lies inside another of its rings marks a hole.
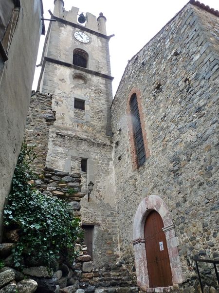
[[[23,140],[41,34],[39,0],[20,0],[18,23],[0,72],[0,212]],[[1,222],[0,222],[1,224]]]

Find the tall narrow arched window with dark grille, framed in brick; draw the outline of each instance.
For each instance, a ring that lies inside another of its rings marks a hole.
[[[130,112],[131,112],[131,122],[132,122],[132,131],[135,145],[135,152],[137,157],[137,165],[140,167],[146,161],[145,145],[142,135],[142,126],[138,109],[138,101],[136,93],[132,94],[130,101]]]

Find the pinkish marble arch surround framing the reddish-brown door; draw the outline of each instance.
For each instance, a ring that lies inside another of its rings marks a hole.
[[[179,240],[178,237],[175,236],[175,230],[171,215],[162,198],[157,195],[150,195],[144,198],[138,206],[133,224],[133,245],[137,284],[144,291],[147,291],[147,288],[149,288],[144,226],[146,217],[151,210],[156,210],[161,215],[164,222],[163,231],[166,236],[167,249],[169,252],[173,285],[180,284],[183,281],[182,269],[177,248],[177,246],[179,245]]]

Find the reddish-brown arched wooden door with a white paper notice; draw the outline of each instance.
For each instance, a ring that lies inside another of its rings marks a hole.
[[[172,273],[160,214],[153,210],[145,222],[145,247],[150,288],[171,286]]]

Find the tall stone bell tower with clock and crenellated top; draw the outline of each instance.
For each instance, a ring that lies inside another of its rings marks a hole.
[[[55,0],[41,61],[38,88],[53,94],[56,121],[49,130],[46,165],[82,174],[81,217],[96,268],[115,263],[114,170],[110,105],[112,101],[109,41],[106,18],[100,13],[65,11]],[[78,16],[80,16],[78,21]]]

